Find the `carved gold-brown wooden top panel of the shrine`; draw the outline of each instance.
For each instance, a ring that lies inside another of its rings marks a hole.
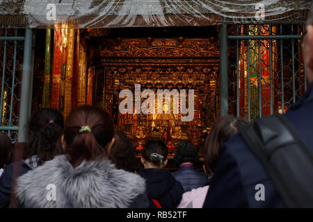
[[[218,44],[210,39],[123,39],[105,40],[100,46],[101,57],[218,57]]]

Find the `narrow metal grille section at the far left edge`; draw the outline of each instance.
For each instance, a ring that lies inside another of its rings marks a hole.
[[[0,130],[13,141],[19,124],[23,49],[24,29],[0,28]]]

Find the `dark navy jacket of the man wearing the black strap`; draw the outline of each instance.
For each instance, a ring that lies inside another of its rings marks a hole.
[[[313,83],[284,117],[313,152]],[[255,200],[257,184],[265,187],[264,201]],[[284,207],[265,169],[239,134],[222,148],[204,207]]]

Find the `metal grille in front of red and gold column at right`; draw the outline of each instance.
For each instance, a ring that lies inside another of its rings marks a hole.
[[[255,120],[283,113],[305,92],[304,24],[229,26],[229,112]]]

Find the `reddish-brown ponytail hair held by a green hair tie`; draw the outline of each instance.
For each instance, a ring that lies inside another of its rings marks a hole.
[[[82,126],[88,130],[80,132]],[[110,115],[102,108],[83,105],[72,110],[65,122],[65,154],[72,165],[83,160],[104,157],[106,148],[113,139],[114,126]]]

